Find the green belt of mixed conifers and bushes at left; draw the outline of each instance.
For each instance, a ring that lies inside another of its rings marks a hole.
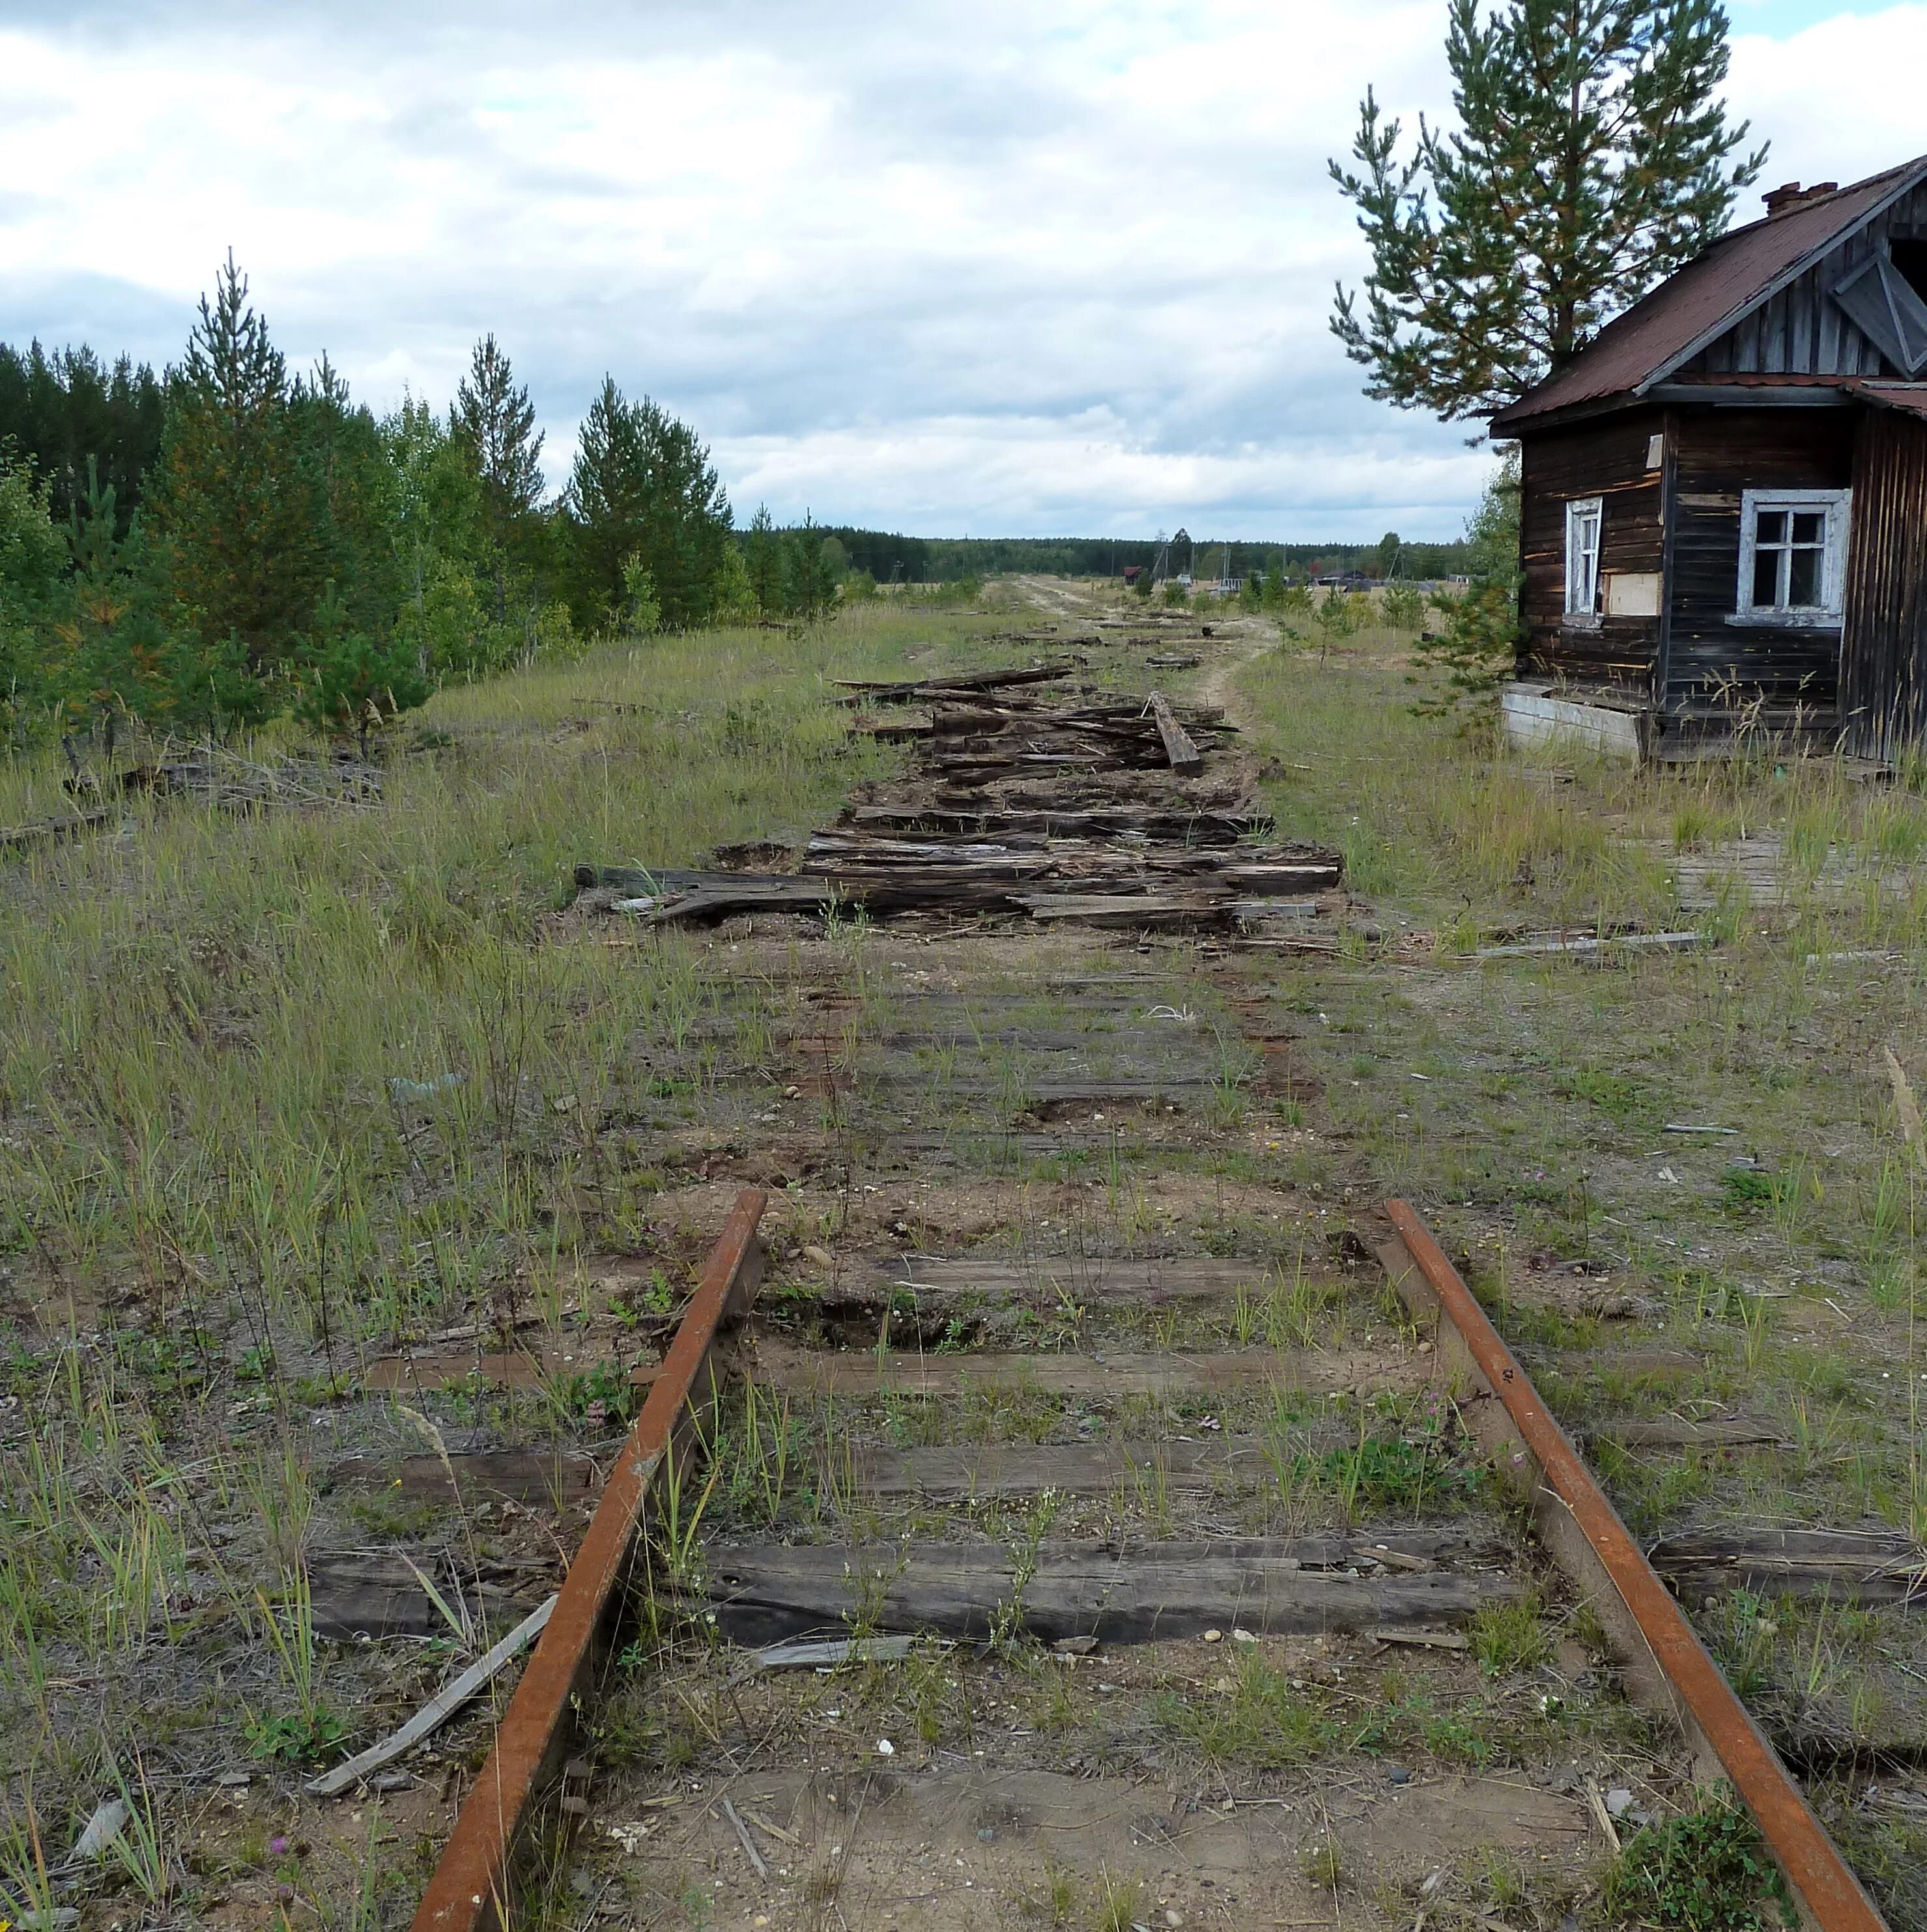
[[[445,413],[290,375],[230,261],[174,367],[0,344],[0,723],[367,734],[450,678],[862,595],[823,531],[738,529],[709,452],[605,379],[553,500],[493,336]],[[845,582],[847,580],[847,582]]]

